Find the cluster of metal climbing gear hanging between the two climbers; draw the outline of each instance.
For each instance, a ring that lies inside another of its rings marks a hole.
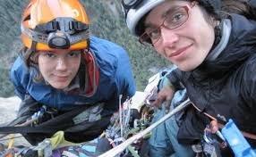
[[[122,96],[120,96],[120,99]],[[115,112],[110,120],[110,125],[101,137],[106,137],[110,145],[114,148],[122,144],[127,138],[136,135],[141,130],[148,128],[153,116],[153,112],[149,112],[145,104],[141,110],[132,109],[132,99],[129,97],[123,104],[119,104],[119,112]],[[147,108],[147,109],[146,109]],[[146,112],[147,111],[147,112]],[[141,145],[144,141],[148,140],[150,133],[143,136],[141,139],[136,140],[129,145],[123,153],[118,156],[140,156]]]

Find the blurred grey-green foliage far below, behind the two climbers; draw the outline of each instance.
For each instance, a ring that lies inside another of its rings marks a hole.
[[[0,96],[11,96],[10,68],[21,49],[21,13],[29,0],[0,0]],[[151,45],[141,45],[124,22],[120,0],[81,0],[90,16],[91,34],[122,45],[130,56],[137,90],[143,90],[148,78],[170,66]]]

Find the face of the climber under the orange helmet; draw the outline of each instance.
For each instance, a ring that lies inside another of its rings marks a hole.
[[[68,87],[79,70],[81,50],[38,53],[38,67],[43,78],[56,89]]]

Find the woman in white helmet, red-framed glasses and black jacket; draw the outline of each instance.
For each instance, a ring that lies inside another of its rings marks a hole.
[[[132,34],[177,66],[167,75],[166,85],[152,105],[159,107],[166,101],[166,110],[172,109],[170,104],[175,92],[183,88],[194,104],[180,117],[166,121],[162,128],[166,130],[161,130],[161,134],[160,130],[157,135],[153,134],[157,143],[150,142],[151,156],[172,153],[193,156],[192,145],[201,144],[204,130],[212,120],[225,125],[232,119],[244,132],[256,134],[256,75],[253,72],[256,9],[253,3],[255,1],[244,0],[122,1],[125,21]],[[245,137],[255,149],[256,140]],[[221,145],[213,147],[223,156],[232,156]]]

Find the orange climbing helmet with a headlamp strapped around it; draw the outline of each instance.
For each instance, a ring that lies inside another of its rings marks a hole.
[[[89,18],[79,0],[31,0],[21,21],[23,44],[35,51],[89,47]]]

